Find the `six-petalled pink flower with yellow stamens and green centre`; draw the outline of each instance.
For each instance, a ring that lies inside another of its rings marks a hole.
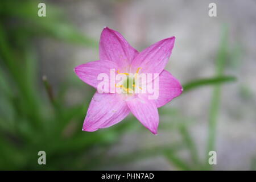
[[[164,69],[171,56],[175,37],[160,40],[152,46],[138,52],[130,46],[123,36],[105,27],[100,38],[100,60],[81,64],[75,68],[77,76],[86,84],[97,89],[101,80],[100,73],[158,73],[159,96],[156,100],[148,99],[148,93],[99,93],[94,94],[90,102],[83,131],[96,131],[110,127],[122,121],[130,112],[153,134],[157,134],[161,107],[182,92],[180,82]],[[128,78],[129,79],[129,78]],[[123,89],[130,89],[121,85]],[[134,83],[133,86],[136,86]]]

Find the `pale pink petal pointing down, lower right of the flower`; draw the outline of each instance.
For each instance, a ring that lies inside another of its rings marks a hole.
[[[159,115],[155,100],[147,100],[146,97],[135,97],[127,100],[131,113],[150,130],[153,134],[158,133]]]

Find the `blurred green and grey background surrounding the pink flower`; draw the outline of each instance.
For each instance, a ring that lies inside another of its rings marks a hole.
[[[46,17],[39,1],[0,2],[0,169],[256,169],[255,1],[42,2]],[[73,68],[99,59],[104,26],[138,51],[176,37],[166,69],[184,93],[159,108],[157,136],[132,115],[81,131],[95,90]]]

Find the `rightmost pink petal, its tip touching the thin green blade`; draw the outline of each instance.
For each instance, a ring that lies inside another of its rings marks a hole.
[[[182,93],[182,86],[179,80],[164,70],[159,75],[159,96],[156,101],[156,106],[161,107],[170,102],[175,97]]]

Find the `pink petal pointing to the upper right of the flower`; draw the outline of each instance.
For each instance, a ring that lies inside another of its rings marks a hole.
[[[131,65],[131,71],[135,72],[141,67],[140,73],[161,73],[171,56],[175,37],[160,40],[152,46],[144,49],[135,57]]]

